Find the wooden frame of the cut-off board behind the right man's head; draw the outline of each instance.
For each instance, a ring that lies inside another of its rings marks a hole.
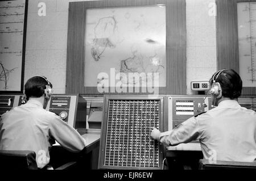
[[[250,0],[216,0],[217,69],[234,69],[239,73],[237,2]],[[255,0],[254,0],[255,1]],[[242,95],[255,95],[256,87],[243,87]]]

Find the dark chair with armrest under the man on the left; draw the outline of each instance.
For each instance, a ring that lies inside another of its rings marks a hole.
[[[0,150],[0,161],[1,170],[38,170],[36,154],[30,150]],[[74,166],[76,166],[76,162],[68,162],[55,170],[71,169]]]

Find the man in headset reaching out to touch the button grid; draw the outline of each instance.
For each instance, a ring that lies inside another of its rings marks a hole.
[[[210,78],[212,110],[184,121],[172,131],[160,133],[152,128],[151,137],[175,146],[199,140],[205,159],[256,161],[256,112],[238,104],[242,80],[236,71],[219,70]]]

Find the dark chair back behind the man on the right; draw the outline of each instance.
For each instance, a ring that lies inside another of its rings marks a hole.
[[[256,162],[232,162],[199,160],[199,170],[256,170]]]

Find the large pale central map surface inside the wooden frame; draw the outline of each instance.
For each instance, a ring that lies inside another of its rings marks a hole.
[[[166,7],[87,9],[84,86],[96,87],[112,75],[115,83],[136,86],[129,73],[140,77],[139,85],[166,86]]]

